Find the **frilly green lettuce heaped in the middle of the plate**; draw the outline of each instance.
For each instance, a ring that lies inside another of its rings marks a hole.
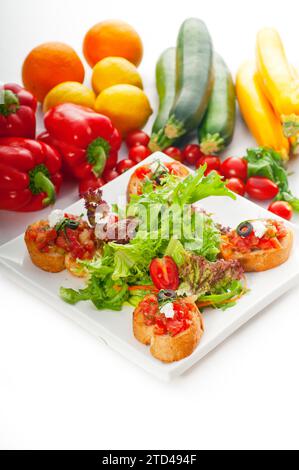
[[[125,211],[115,206],[113,209],[120,218],[138,219],[135,237],[127,244],[104,243],[101,256],[82,261],[89,272],[86,288],[76,291],[62,287],[61,298],[69,304],[90,300],[98,309],[120,310],[125,302],[137,305],[151,292],[151,261],[165,255],[171,256],[179,269],[185,267],[183,279],[189,287],[192,279],[202,285],[204,273],[192,271],[194,266],[189,254],[200,256],[206,263],[216,262],[220,231],[211,215],[193,204],[208,196],[235,198],[218,174],[204,176],[205,169],[206,166],[200,167],[185,180],[163,172],[161,184],[156,186],[153,181],[147,181],[142,194],[132,196]],[[186,260],[189,260],[189,268],[186,268]],[[214,271],[207,268],[207,272],[211,281],[209,276]],[[223,276],[220,278],[223,280]],[[209,289],[197,289],[198,295],[212,293],[211,282]],[[214,295],[220,294],[223,292],[214,292]]]

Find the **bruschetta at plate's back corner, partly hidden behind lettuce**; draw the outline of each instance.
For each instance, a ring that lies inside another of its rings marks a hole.
[[[132,194],[141,194],[142,187],[145,181],[151,180],[155,184],[159,185],[165,174],[171,173],[180,178],[186,178],[189,175],[189,170],[180,162],[160,162],[159,160],[150,163],[148,165],[142,165],[138,167],[132,174],[129,183],[127,196],[128,199]]]

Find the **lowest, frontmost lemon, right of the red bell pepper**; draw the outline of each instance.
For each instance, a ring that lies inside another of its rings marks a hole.
[[[97,97],[94,109],[108,116],[123,136],[141,129],[153,112],[144,91],[133,85],[105,88]]]

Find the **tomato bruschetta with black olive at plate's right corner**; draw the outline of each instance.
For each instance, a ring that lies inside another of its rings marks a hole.
[[[238,260],[246,272],[267,271],[288,260],[293,233],[283,222],[259,219],[222,235],[221,256]]]

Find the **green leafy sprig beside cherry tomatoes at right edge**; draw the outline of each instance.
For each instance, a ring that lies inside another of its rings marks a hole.
[[[289,188],[288,173],[279,153],[265,147],[248,149],[245,160],[248,162],[249,177],[264,176],[269,178],[279,187],[279,193],[275,199],[287,201],[295,211],[299,211],[299,199],[292,194]]]

